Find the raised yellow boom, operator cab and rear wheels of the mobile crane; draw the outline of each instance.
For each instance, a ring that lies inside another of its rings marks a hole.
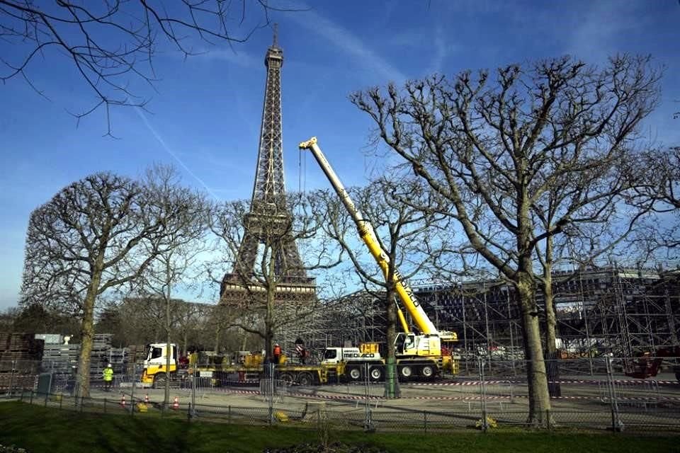
[[[377,236],[373,230],[373,226],[368,220],[363,218],[361,212],[356,208],[351,197],[345,190],[340,179],[333,171],[324,156],[323,152],[317,144],[317,138],[312,137],[307,142],[302,142],[299,145],[300,149],[308,149],[312,152],[314,159],[316,159],[322,171],[326,174],[328,180],[333,186],[335,192],[340,197],[346,210],[351,215],[359,236],[368,247],[370,254],[375,258],[382,269],[385,280],[389,278],[388,268],[390,265],[390,258],[385,251],[382,250],[380,243],[378,243]],[[446,348],[442,348],[442,342],[453,343],[458,340],[458,336],[454,332],[438,331],[434,323],[429,319],[423,307],[413,294],[412,289],[404,282],[401,275],[394,270],[392,283],[395,285],[395,290],[399,300],[407,309],[419,335],[410,331],[409,326],[404,318],[404,314],[397,306],[397,314],[399,321],[402,324],[403,332],[397,334],[395,338],[395,345],[397,347],[397,370],[402,379],[409,379],[411,377],[423,377],[429,379],[436,374],[440,374],[446,370],[452,374],[458,373],[458,362],[453,359],[453,356]]]

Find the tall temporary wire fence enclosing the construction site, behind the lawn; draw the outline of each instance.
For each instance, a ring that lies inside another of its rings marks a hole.
[[[668,362],[654,379],[635,379],[625,374],[621,359],[548,362],[550,408],[533,413],[531,423],[544,428],[595,430],[680,431],[680,384],[674,365]],[[399,382],[399,398],[387,398],[384,382],[365,378],[321,386],[302,386],[280,376],[275,369],[263,379],[246,384],[220,382],[212,377],[185,377],[173,383],[169,401],[164,389],[142,387],[133,376],[117,375],[113,389],[93,383],[91,397],[78,400],[73,379],[51,375],[50,387],[40,379],[4,389],[7,396],[45,406],[77,411],[176,415],[191,420],[227,423],[288,423],[317,429],[435,431],[475,427],[526,426],[530,420],[529,386],[520,360],[482,357],[456,379]],[[595,368],[596,365],[596,368]],[[273,365],[272,365],[273,366]],[[501,371],[503,370],[503,371]],[[41,374],[40,376],[43,376]],[[15,380],[18,382],[18,380]],[[28,384],[28,385],[26,385]]]

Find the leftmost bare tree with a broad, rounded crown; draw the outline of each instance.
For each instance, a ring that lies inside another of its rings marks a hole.
[[[21,306],[40,304],[81,323],[77,393],[89,395],[94,314],[106,292],[137,279],[157,253],[174,210],[152,210],[142,185],[96,173],[62,189],[30,215]]]

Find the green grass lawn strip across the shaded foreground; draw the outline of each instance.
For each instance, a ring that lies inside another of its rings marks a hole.
[[[38,452],[263,452],[302,443],[319,444],[316,430],[283,424],[273,427],[195,422],[176,418],[77,413],[0,403],[0,444]],[[341,441],[365,448],[343,450],[395,453],[672,453],[680,452],[680,436],[640,436],[628,433],[580,431],[452,430],[449,434],[411,434],[331,431],[328,442]],[[322,452],[323,449],[315,451]],[[328,449],[328,452],[334,452]]]

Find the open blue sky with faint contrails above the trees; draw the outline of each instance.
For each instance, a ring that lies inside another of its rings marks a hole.
[[[274,3],[274,2],[273,2]],[[616,52],[651,54],[666,67],[659,108],[645,134],[680,143],[680,4],[631,1],[317,1],[310,11],[275,13],[283,64],[283,148],[289,190],[326,187],[297,143],[312,135],[346,185],[361,184],[379,161],[366,156],[370,121],[349,93],[388,81],[452,75],[463,69],[574,55],[604,64]],[[2,21],[0,16],[0,21]],[[164,47],[155,68],[150,113],[115,108],[113,134],[103,137],[103,110],[77,123],[94,97],[52,52],[30,78],[0,85],[0,309],[16,305],[30,212],[64,185],[96,171],[139,176],[156,162],[174,164],[183,182],[219,200],[248,198],[254,183],[271,30],[229,48],[182,59]],[[0,43],[0,57],[16,49]]]

